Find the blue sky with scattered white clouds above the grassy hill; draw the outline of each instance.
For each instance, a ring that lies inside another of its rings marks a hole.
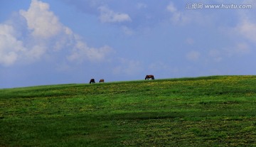
[[[255,13],[254,0],[0,0],[0,89],[255,75]]]

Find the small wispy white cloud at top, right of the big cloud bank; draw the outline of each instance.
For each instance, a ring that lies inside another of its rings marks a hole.
[[[127,13],[114,12],[107,6],[100,6],[98,9],[100,10],[100,21],[102,23],[132,21]]]

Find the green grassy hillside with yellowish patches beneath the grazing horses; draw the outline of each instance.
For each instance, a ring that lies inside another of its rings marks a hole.
[[[256,76],[0,90],[0,146],[256,146]]]

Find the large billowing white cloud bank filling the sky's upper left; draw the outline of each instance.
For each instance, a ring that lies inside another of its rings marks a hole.
[[[0,65],[31,63],[41,60],[45,55],[55,58],[53,56],[57,54],[62,54],[58,58],[67,57],[65,60],[73,62],[99,62],[106,59],[112,48],[107,45],[101,48],[88,47],[77,34],[60,23],[49,9],[48,4],[32,0],[27,11],[19,11],[26,23],[23,28],[22,25],[14,25],[17,22],[15,18],[10,18],[9,23],[0,23]]]

